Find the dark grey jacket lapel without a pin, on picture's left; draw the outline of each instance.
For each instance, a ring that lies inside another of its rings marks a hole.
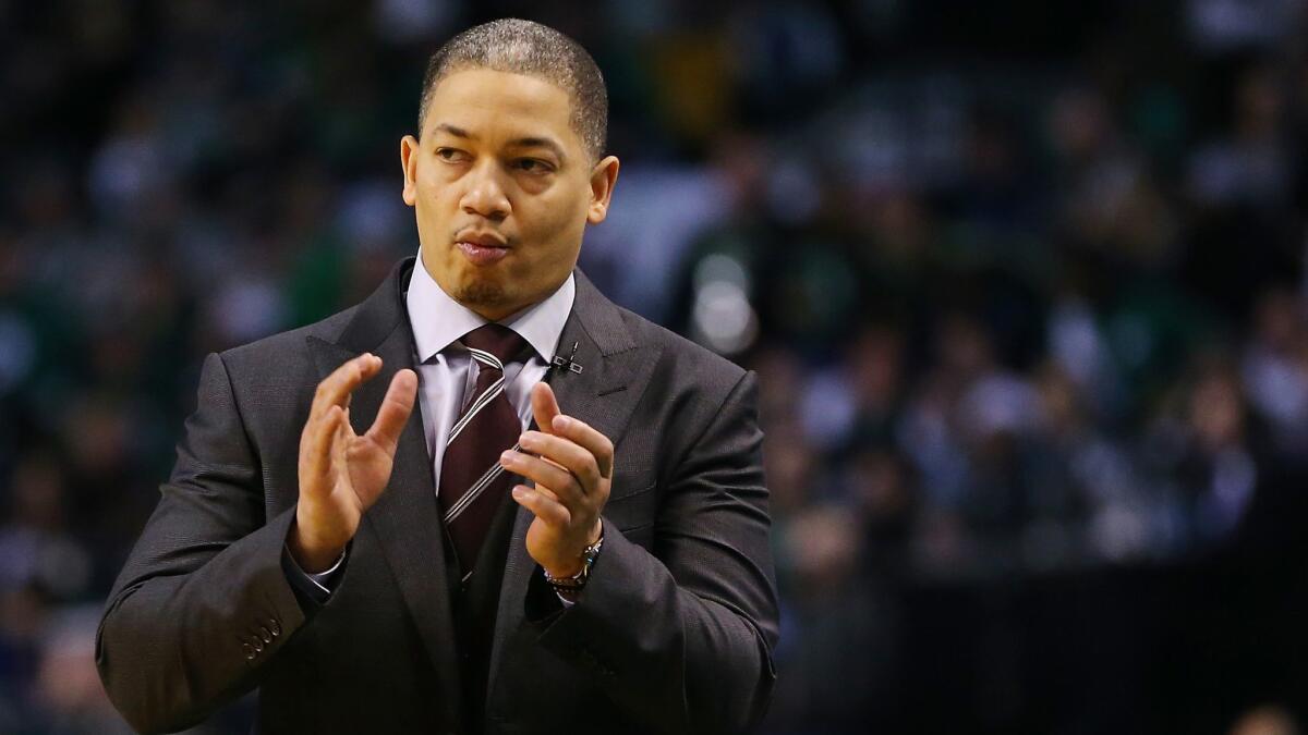
[[[341,362],[371,352],[382,358],[382,371],[354,391],[351,424],[364,433],[377,417],[391,378],[413,369],[413,331],[403,303],[413,259],[402,262],[377,292],[360,305],[336,344],[310,337],[309,345],[326,378]],[[436,502],[432,459],[422,430],[421,402],[413,407],[395,451],[391,481],[364,515],[373,530],[413,615],[426,653],[449,701],[460,700],[459,668],[450,632],[454,615],[445,569],[445,547]],[[362,527],[361,527],[362,530]]]

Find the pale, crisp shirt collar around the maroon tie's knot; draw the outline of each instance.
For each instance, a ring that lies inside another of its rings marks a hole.
[[[559,347],[564,323],[572,313],[577,296],[577,282],[572,273],[552,294],[500,323],[518,332],[547,362]],[[426,362],[459,337],[485,324],[476,311],[463,306],[445,293],[445,289],[432,277],[422,264],[422,251],[419,250],[413,275],[409,277],[405,306],[409,323],[413,324],[413,343],[417,347],[419,362]]]

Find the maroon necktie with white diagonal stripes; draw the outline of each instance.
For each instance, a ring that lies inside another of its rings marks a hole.
[[[500,454],[518,449],[522,434],[522,420],[504,395],[504,364],[521,357],[530,345],[496,323],[477,327],[459,341],[477,365],[477,387],[450,428],[438,494],[445,528],[467,579],[496,509],[515,477],[500,466]]]

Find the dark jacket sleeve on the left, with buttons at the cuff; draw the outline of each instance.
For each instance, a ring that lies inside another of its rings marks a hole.
[[[283,568],[294,507],[266,518],[218,354],[204,361],[198,403],[95,637],[105,689],[143,732],[194,725],[255,687],[305,621]]]

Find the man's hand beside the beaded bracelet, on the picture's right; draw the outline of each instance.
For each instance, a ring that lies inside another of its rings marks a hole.
[[[564,416],[548,383],[531,387],[531,411],[540,430],[525,432],[522,451],[505,451],[500,464],[536,485],[513,488],[513,500],[536,515],[527,530],[527,553],[551,577],[572,577],[585,564],[585,548],[599,540],[599,514],[613,476],[613,442]]]

